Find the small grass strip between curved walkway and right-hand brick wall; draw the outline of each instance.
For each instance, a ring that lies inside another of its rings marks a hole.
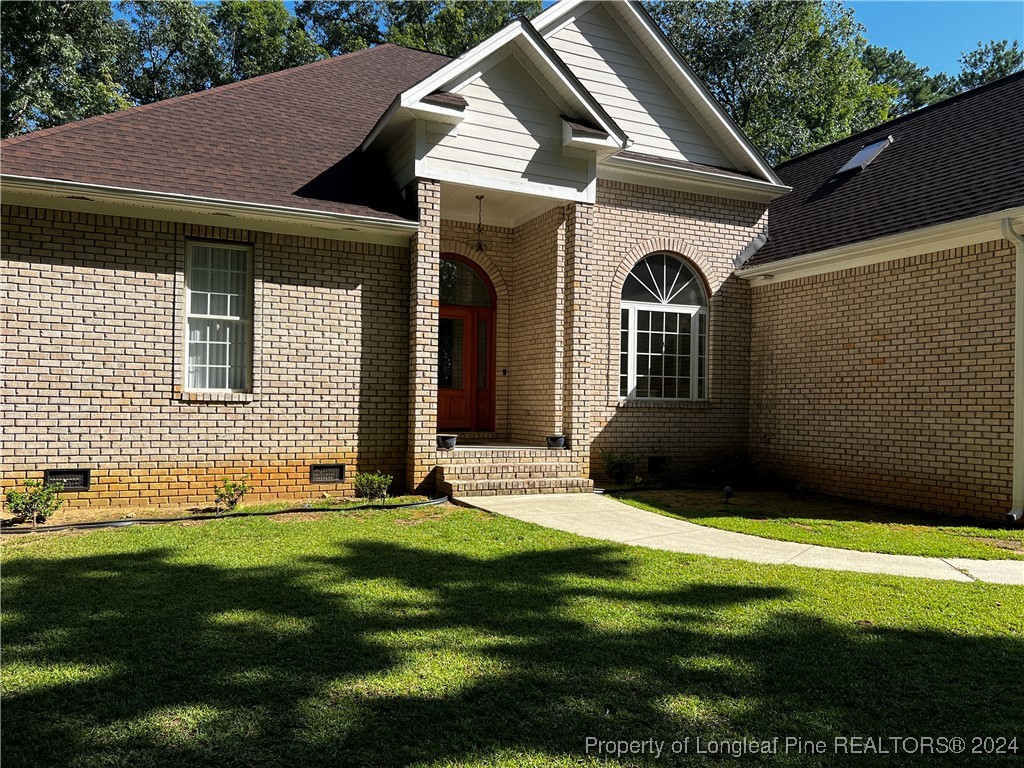
[[[1024,560],[1024,528],[790,494],[637,490],[615,498],[640,509],[737,534],[823,547],[926,557]]]

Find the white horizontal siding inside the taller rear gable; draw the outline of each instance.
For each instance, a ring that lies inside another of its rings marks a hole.
[[[545,39],[633,139],[630,152],[733,167],[602,4],[581,11]]]

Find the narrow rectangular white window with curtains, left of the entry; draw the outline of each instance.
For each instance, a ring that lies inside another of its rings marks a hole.
[[[189,243],[185,265],[185,388],[247,392],[252,369],[252,252]]]

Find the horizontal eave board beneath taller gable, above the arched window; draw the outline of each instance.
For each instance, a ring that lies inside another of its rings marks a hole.
[[[611,181],[641,183],[698,195],[712,194],[758,203],[768,203],[793,190],[793,187],[785,184],[774,184],[753,178],[736,178],[693,168],[673,168],[659,163],[620,158],[614,155],[598,165],[597,176]]]

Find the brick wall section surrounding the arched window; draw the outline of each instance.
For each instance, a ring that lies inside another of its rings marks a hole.
[[[733,258],[764,228],[765,206],[686,193],[601,182],[594,206],[587,309],[594,338],[591,413],[593,474],[603,474],[600,449],[640,461],[668,455],[703,464],[746,450],[750,289],[732,276]],[[618,398],[618,302],[634,264],[649,253],[685,257],[711,293],[708,398],[693,402]]]

